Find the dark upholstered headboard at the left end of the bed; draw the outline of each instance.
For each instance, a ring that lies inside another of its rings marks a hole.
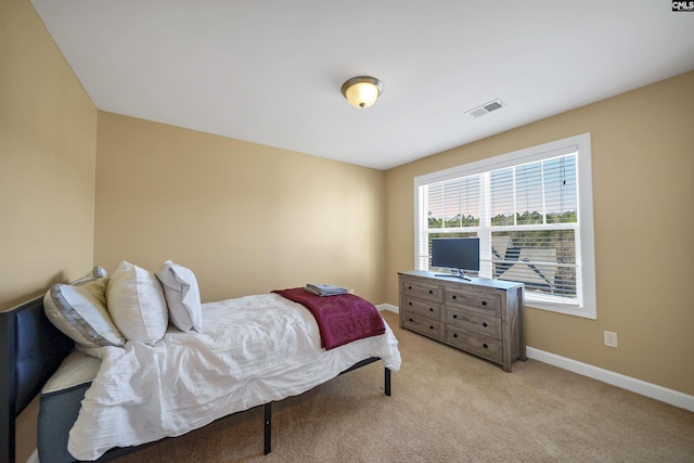
[[[74,346],[43,313],[43,297],[0,312],[0,463],[15,461],[15,419]]]

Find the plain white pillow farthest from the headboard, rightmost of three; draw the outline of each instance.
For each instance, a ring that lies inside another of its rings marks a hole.
[[[162,282],[169,316],[176,327],[183,332],[202,332],[203,312],[195,274],[170,260],[164,262],[154,274]]]

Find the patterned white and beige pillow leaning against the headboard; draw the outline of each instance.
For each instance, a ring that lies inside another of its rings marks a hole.
[[[106,279],[54,284],[43,296],[43,311],[60,331],[86,347],[123,346],[126,340],[108,316]]]

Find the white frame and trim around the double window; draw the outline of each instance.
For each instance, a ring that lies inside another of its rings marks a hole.
[[[425,223],[425,197],[422,194],[423,187],[451,180],[484,173],[491,170],[503,169],[512,166],[535,163],[565,154],[576,153],[577,197],[579,223],[576,229],[576,265],[577,265],[577,301],[560,303],[553,297],[542,297],[534,292],[526,292],[526,305],[538,309],[558,313],[596,319],[595,294],[595,252],[593,231],[593,189],[591,164],[591,138],[590,133],[581,133],[562,140],[543,143],[506,154],[501,154],[487,159],[481,159],[436,172],[417,176],[414,178],[414,268],[428,270],[427,231]],[[485,200],[481,200],[485,201]],[[486,213],[480,211],[480,221]],[[466,228],[465,231],[478,232],[479,227]],[[422,252],[424,249],[424,253]],[[485,266],[491,267],[491,246],[480,248],[480,273]],[[490,274],[490,273],[489,273]]]

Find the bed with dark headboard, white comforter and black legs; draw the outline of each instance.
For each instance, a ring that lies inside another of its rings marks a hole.
[[[337,300],[333,297],[323,299]],[[121,347],[76,344],[49,321],[44,300],[0,313],[0,462],[14,462],[15,417],[37,395],[39,458],[50,455],[44,461],[110,461],[256,407],[264,408],[267,454],[273,401],[377,361],[384,364],[383,388],[389,396],[390,371],[400,365],[397,339],[385,320],[383,334],[326,348],[330,339],[311,309],[278,293],[203,304],[205,330],[182,332],[169,324],[160,342]],[[222,339],[213,344],[215,355],[197,346],[207,338]],[[209,372],[211,380],[205,376]],[[149,393],[157,389],[146,386],[153,382],[166,387]],[[134,399],[125,397],[128,389]],[[157,420],[130,414],[134,409],[150,414],[156,409]]]

